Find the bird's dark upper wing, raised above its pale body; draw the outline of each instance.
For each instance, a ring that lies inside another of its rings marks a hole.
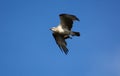
[[[71,30],[74,20],[79,21],[79,19],[75,15],[60,14],[59,16],[61,20],[60,24],[62,25],[62,27],[67,28],[69,30]]]

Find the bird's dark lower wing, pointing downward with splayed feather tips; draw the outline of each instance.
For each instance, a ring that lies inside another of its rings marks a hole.
[[[64,36],[60,35],[58,33],[53,33],[52,35],[53,35],[58,47],[61,49],[61,51],[63,51],[65,54],[67,54],[69,50],[66,47],[67,43],[65,42]]]

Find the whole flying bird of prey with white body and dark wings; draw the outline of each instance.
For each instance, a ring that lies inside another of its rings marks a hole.
[[[60,24],[57,27],[52,27],[50,30],[53,32],[52,35],[62,52],[68,53],[66,39],[72,38],[72,36],[80,36],[80,32],[71,31],[73,21],[79,19],[75,15],[71,14],[60,14]]]

